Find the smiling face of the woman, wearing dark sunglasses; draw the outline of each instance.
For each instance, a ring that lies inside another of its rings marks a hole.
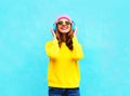
[[[57,29],[62,33],[67,33],[70,31],[72,25],[70,22],[66,18],[62,18],[57,22]]]

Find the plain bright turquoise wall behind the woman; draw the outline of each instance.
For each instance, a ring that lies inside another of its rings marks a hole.
[[[61,14],[78,26],[81,96],[130,96],[129,0],[1,0],[0,96],[48,96],[44,44]]]

